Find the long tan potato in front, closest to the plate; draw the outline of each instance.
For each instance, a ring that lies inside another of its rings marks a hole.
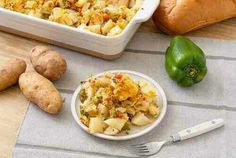
[[[25,97],[50,113],[60,112],[63,100],[51,81],[36,72],[25,72],[19,78],[19,86]]]

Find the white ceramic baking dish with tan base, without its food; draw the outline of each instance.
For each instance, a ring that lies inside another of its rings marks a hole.
[[[0,29],[104,59],[120,56],[140,24],[147,21],[160,0],[144,0],[141,9],[117,36],[107,37],[0,8]]]

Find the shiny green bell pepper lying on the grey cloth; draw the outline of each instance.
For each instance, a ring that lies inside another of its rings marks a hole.
[[[165,67],[170,78],[184,87],[200,82],[207,73],[203,51],[183,36],[171,40],[165,54]]]

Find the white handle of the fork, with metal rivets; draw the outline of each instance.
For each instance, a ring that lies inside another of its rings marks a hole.
[[[214,119],[178,132],[180,140],[189,139],[210,132],[224,125],[223,119]]]

